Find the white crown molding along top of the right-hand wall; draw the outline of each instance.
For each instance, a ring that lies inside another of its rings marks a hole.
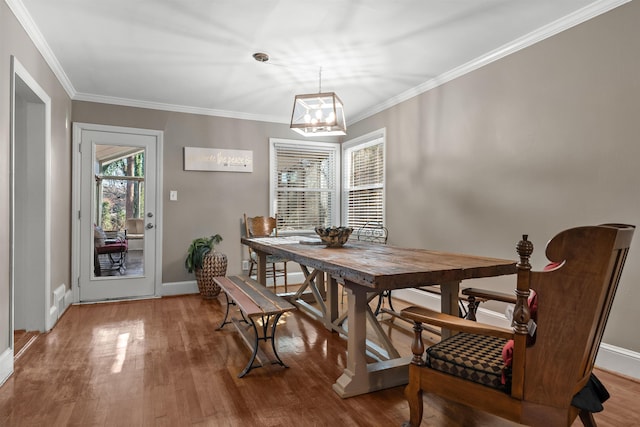
[[[512,53],[518,52],[526,47],[532,46],[538,42],[541,42],[549,37],[552,37],[558,33],[568,30],[576,25],[582,24],[590,19],[593,19],[603,13],[606,13],[612,9],[615,9],[631,0],[598,0],[588,6],[583,7],[561,19],[556,20],[550,24],[545,25],[531,33],[522,36],[512,42],[509,42],[485,55],[482,55],[472,61],[467,62],[459,67],[456,67],[450,71],[440,74],[437,77],[432,78],[414,88],[411,88],[399,95],[389,98],[387,101],[376,105],[375,107],[351,117],[348,120],[348,124],[357,123],[360,120],[366,119],[374,114],[391,108],[401,102],[407,101],[417,95],[441,86],[453,79],[461,77],[467,73],[491,64],[499,59],[502,59]]]

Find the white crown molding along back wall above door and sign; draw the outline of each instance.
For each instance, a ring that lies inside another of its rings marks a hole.
[[[212,108],[191,107],[187,105],[166,104],[162,102],[142,101],[138,99],[118,98],[115,96],[76,93],[74,101],[98,102],[101,104],[122,105],[125,107],[148,108],[152,110],[173,111],[177,113],[200,114],[203,116],[226,117],[230,119],[253,120],[269,123],[286,123],[281,117],[261,114],[242,113],[238,111],[215,110]]]

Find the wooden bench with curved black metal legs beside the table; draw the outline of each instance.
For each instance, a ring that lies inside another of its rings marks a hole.
[[[244,377],[254,367],[263,366],[266,361],[286,368],[287,365],[282,362],[276,350],[276,326],[282,314],[295,310],[296,307],[247,276],[216,277],[213,280],[220,286],[227,301],[224,319],[217,329],[222,329],[227,323],[233,323],[245,344],[252,350],[251,359],[238,378]],[[232,305],[238,307],[242,319],[232,317],[231,320],[227,320],[229,307]],[[253,334],[249,332],[250,329],[253,329]],[[275,360],[267,358],[258,345],[260,341],[271,341]],[[254,366],[256,359],[259,365]]]

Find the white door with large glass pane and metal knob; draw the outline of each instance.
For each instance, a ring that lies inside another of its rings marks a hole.
[[[78,139],[79,301],[153,296],[161,242],[161,132],[74,125]]]

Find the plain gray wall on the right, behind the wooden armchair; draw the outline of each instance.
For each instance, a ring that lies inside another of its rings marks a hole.
[[[514,258],[528,233],[541,268],[562,229],[640,226],[639,22],[630,2],[350,126],[387,129],[391,243]],[[638,283],[640,231],[604,337],[634,351]]]

